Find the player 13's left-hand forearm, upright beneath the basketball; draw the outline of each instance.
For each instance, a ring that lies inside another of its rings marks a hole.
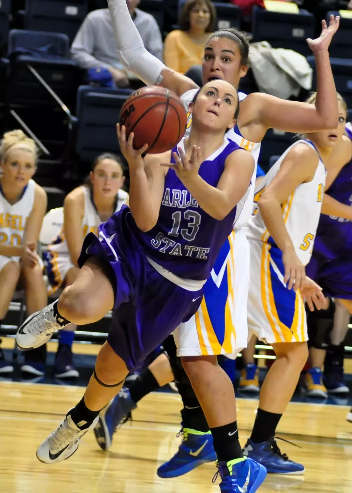
[[[130,170],[130,209],[137,226],[141,231],[152,229],[159,216],[154,207],[153,196],[150,191],[144,169]]]

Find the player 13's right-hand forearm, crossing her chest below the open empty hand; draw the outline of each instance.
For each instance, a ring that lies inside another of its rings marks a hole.
[[[199,175],[183,180],[183,184],[199,207],[214,219],[221,221],[234,207],[223,191],[211,186]]]

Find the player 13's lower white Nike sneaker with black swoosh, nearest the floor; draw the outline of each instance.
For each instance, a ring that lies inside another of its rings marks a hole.
[[[79,440],[82,436],[98,423],[99,416],[95,418],[89,428],[81,430],[73,423],[70,412],[71,409],[58,428],[50,433],[48,438],[38,447],[36,457],[40,462],[55,464],[71,457],[78,449]]]

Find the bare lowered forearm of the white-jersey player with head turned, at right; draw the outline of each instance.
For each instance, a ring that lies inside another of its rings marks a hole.
[[[258,207],[265,226],[281,251],[294,248],[282,217],[279,201],[275,198],[261,198]]]

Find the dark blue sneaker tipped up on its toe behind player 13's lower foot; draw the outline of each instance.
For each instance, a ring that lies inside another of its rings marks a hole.
[[[128,421],[131,411],[136,409],[128,388],[121,388],[99,414],[99,421],[94,428],[95,438],[103,450],[111,447],[112,435],[123,423]]]

